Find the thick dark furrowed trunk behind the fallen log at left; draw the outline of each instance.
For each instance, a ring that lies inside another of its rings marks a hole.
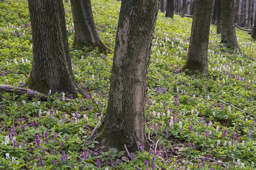
[[[62,0],[29,0],[33,63],[29,88],[77,95],[71,68]]]

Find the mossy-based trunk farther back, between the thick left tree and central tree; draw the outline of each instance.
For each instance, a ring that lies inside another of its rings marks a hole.
[[[90,0],[70,0],[75,36],[73,46],[75,49],[98,47],[100,51],[111,51],[99,38],[93,18]]]

